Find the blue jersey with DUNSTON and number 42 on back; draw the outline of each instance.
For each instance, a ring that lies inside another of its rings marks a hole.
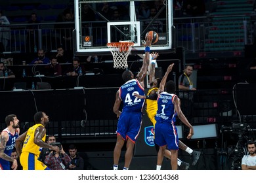
[[[132,79],[119,88],[119,97],[123,101],[123,111],[141,112],[144,105],[144,99],[135,97],[135,93],[144,95],[144,88],[137,79]]]

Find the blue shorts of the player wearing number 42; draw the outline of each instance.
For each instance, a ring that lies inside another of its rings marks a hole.
[[[124,141],[129,138],[135,142],[140,133],[142,112],[122,112],[117,124],[117,135]]]

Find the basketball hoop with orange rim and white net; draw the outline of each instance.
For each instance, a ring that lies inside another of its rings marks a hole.
[[[133,42],[109,42],[107,43],[113,55],[114,68],[126,69],[128,67],[127,58],[131,52]]]

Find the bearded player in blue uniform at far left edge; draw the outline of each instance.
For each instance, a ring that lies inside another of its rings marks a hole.
[[[11,157],[15,141],[20,133],[18,122],[19,120],[14,114],[5,117],[7,128],[0,135],[0,169],[10,170],[10,161],[12,161],[11,169],[16,170],[18,167],[17,160]]]

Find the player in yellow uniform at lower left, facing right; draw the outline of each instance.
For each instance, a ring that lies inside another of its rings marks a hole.
[[[49,169],[47,165],[39,161],[40,150],[49,148],[59,152],[58,146],[52,146],[45,142],[46,129],[45,125],[49,123],[49,117],[45,112],[37,112],[33,116],[35,125],[16,139],[16,150],[20,157],[20,163],[24,170],[45,170]],[[23,146],[22,146],[23,142]]]

